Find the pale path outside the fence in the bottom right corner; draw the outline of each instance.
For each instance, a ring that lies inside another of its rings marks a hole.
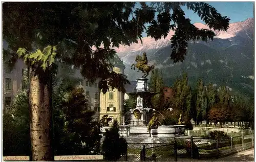
[[[196,160],[196,159],[182,159],[178,158],[178,161],[254,161],[254,148],[241,151],[229,156],[221,157],[219,159],[207,159],[207,160]]]

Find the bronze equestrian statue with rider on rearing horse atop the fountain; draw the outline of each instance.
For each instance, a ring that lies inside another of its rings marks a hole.
[[[142,73],[144,73],[144,75],[142,76],[142,78],[146,78],[148,76],[148,73],[150,73],[150,71],[152,71],[152,73],[154,73],[154,68],[155,66],[152,65],[147,65],[147,57],[146,57],[146,53],[144,52],[142,56],[137,55],[135,58],[135,61],[137,62],[136,64],[132,64],[131,68],[133,68],[135,70],[135,67],[138,68],[138,72],[141,71]]]

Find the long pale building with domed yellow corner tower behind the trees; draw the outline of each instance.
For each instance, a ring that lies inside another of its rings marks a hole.
[[[115,55],[112,59],[112,64],[115,65],[111,71],[122,74],[124,77],[124,64],[122,60]],[[10,72],[5,67],[3,69],[3,107],[11,105],[12,100],[17,94],[18,89],[28,88],[23,80],[24,70],[27,66],[22,60],[18,60],[15,68]],[[88,109],[95,111],[95,120],[99,121],[104,114],[108,114],[113,120],[116,119],[119,124],[122,124],[122,111],[124,107],[124,93],[116,88],[110,89],[106,94],[103,94],[99,89],[99,79],[95,83],[91,83],[87,79],[82,79],[80,71],[75,72],[75,77],[81,78],[80,85],[84,88],[84,93],[88,99]]]

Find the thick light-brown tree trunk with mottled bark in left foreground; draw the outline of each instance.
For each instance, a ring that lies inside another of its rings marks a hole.
[[[32,161],[53,161],[51,85],[30,70],[30,138]]]

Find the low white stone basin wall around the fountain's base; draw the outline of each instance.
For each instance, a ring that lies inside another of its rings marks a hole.
[[[121,125],[119,128],[119,134],[126,137],[138,137],[138,136],[151,136],[154,137],[173,137],[178,134],[184,134],[185,125],[171,125],[171,126],[158,126],[157,129],[152,129],[151,133],[147,132],[147,126],[135,126],[135,125]],[[102,133],[110,129],[110,126],[103,126]]]

